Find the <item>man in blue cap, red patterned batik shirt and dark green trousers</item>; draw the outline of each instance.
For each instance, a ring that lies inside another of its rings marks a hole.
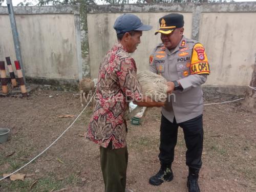
[[[129,53],[140,44],[142,31],[152,29],[143,25],[133,14],[119,16],[114,24],[118,43],[104,56],[96,90],[96,106],[90,119],[87,138],[100,146],[100,164],[105,192],[131,191],[125,189],[128,153],[126,147],[127,125],[124,111],[127,100],[139,106],[163,106],[142,97],[136,79],[136,63]]]

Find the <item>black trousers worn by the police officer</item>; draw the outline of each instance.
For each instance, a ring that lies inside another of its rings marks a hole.
[[[160,126],[160,154],[159,159],[162,167],[172,165],[174,161],[174,148],[177,143],[178,127],[182,127],[186,142],[186,165],[193,169],[200,169],[202,166],[203,151],[203,115],[188,121],[177,123],[170,122],[163,115]]]

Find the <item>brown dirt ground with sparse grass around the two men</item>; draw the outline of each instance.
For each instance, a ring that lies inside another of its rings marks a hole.
[[[73,94],[77,92],[37,90],[28,99],[0,98],[0,127],[11,129],[9,141],[0,144],[1,176],[42,152],[74,121],[83,108],[79,96]],[[256,114],[239,107],[236,102],[204,108],[201,191],[256,191]],[[91,113],[89,108],[45,154],[19,171],[27,175],[24,181],[0,181],[0,191],[102,192],[99,148],[83,137]],[[66,114],[75,117],[58,117]],[[174,180],[158,187],[148,183],[160,167],[159,126],[157,108],[150,109],[144,125],[129,123],[127,188],[135,192],[187,191],[182,129],[173,163]]]

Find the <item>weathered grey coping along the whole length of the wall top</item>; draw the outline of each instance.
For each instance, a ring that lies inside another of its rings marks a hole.
[[[170,3],[170,4],[112,4],[88,5],[87,13],[144,13],[144,12],[256,12],[256,2],[236,3]],[[79,14],[79,5],[20,6],[15,14]],[[0,6],[0,14],[8,14],[6,6]]]

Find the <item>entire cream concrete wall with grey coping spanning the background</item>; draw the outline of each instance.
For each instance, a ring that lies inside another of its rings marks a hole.
[[[83,2],[82,2],[83,3]],[[76,83],[97,78],[100,61],[116,40],[113,24],[123,13],[138,15],[153,30],[143,32],[132,55],[138,70],[160,42],[154,35],[159,17],[182,13],[185,36],[206,48],[211,74],[208,86],[246,86],[256,54],[256,2],[230,4],[134,4],[15,7],[26,77]],[[7,7],[0,7],[0,60],[15,51]],[[38,81],[37,81],[38,82]],[[44,81],[46,82],[46,81]]]

